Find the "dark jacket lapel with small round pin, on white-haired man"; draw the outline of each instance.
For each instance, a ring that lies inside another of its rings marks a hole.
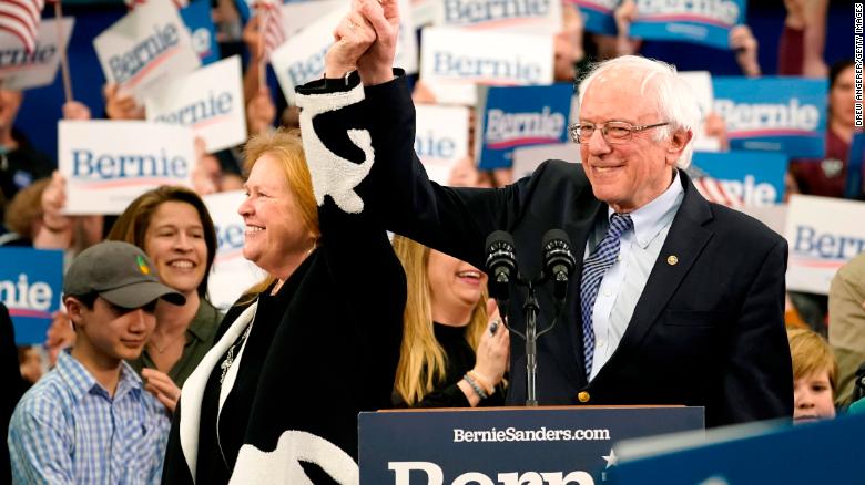
[[[628,329],[611,361],[619,358],[619,354],[627,354],[640,345],[645,333],[666,309],[682,279],[712,238],[713,233],[704,227],[704,224],[712,219],[709,203],[696,192],[684,172],[679,171],[679,176],[682,177],[684,186],[684,199],[673,218],[661,254],[658,255]]]

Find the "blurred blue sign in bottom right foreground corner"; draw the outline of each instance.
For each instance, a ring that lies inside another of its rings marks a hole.
[[[731,435],[737,430],[719,431]],[[621,460],[609,475],[615,485],[861,484],[863,436],[865,414],[774,426],[720,442],[706,432],[710,444]]]

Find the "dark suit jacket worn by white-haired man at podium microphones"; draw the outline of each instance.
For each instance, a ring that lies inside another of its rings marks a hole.
[[[582,166],[548,161],[503,189],[441,187],[428,180],[414,152],[415,111],[403,78],[365,93],[364,102],[320,116],[364,113],[376,152],[368,179],[377,184],[365,202],[388,229],[478,268],[485,268],[487,236],[509,231],[520,272],[529,277],[540,274],[543,234],[560,228],[570,236],[578,265],[562,314],[538,341],[539,404],[705,406],[709,426],[792,415],[781,236],[708,203],[680,171],[674,183],[683,185],[684,200],[658,261],[621,343],[587,383],[578,310],[582,256],[608,206],[593,196]],[[333,123],[314,123],[316,130],[326,125]],[[510,324],[523,331],[525,289],[511,285],[510,295]],[[538,300],[541,330],[554,316],[551,283],[539,288]],[[509,382],[508,402],[525,403],[525,342],[515,333]]]

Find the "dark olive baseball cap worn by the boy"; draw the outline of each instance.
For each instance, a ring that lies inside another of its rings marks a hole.
[[[174,305],[186,302],[183,295],[160,282],[141,248],[116,240],[84,249],[67,270],[64,295],[92,292],[122,308],[141,308],[156,298]]]

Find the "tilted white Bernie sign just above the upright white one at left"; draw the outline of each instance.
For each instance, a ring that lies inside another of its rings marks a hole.
[[[246,141],[241,58],[233,55],[160,83],[144,99],[147,121],[189,126],[207,153]]]

